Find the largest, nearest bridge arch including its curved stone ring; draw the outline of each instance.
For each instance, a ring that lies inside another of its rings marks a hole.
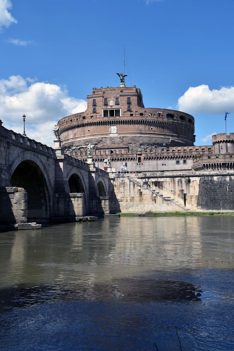
[[[53,188],[46,166],[35,153],[25,151],[16,157],[9,170],[9,183],[26,190],[29,221],[52,217]]]

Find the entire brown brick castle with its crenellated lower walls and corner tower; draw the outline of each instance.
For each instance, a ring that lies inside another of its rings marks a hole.
[[[116,172],[233,167],[232,133],[213,136],[213,145],[195,146],[194,117],[165,108],[146,108],[136,86],[93,88],[87,101],[87,110],[58,121],[62,147],[69,155],[86,162],[85,145],[91,143],[92,160],[104,170],[106,158]],[[221,149],[214,145],[221,145]],[[222,151],[231,157],[227,160],[223,155],[215,162],[214,154]]]

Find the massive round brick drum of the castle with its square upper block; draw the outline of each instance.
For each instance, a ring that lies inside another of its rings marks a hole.
[[[93,88],[84,112],[58,121],[62,146],[138,147],[193,145],[194,118],[165,108],[145,108],[136,86]]]

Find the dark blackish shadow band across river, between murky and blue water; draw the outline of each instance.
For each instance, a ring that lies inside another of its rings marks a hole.
[[[0,309],[56,300],[108,302],[199,302],[202,290],[184,281],[153,278],[114,279],[109,284],[19,286],[0,291]]]

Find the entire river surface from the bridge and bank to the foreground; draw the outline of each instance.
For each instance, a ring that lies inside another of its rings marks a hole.
[[[128,217],[0,233],[0,350],[234,350],[233,225]]]

